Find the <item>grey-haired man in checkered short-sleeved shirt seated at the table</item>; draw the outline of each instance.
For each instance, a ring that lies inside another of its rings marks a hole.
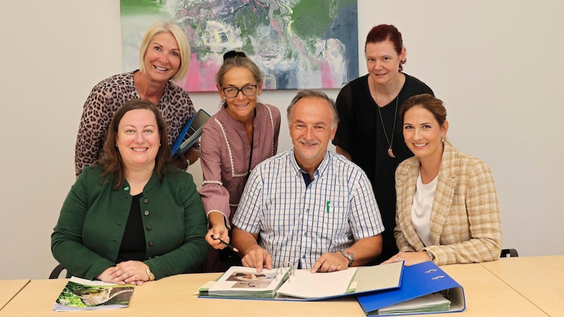
[[[252,170],[233,218],[243,266],[331,272],[380,254],[384,225],[372,185],[355,163],[327,150],[337,123],[323,92],[300,91],[288,106],[294,148]]]

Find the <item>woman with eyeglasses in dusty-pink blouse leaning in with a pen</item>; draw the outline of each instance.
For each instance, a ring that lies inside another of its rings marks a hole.
[[[213,247],[204,263],[206,272],[223,272],[240,263],[221,241],[230,240],[228,228],[252,168],[278,150],[280,111],[257,102],[262,78],[245,53],[223,55],[216,75],[221,108],[204,125],[200,147],[204,173],[200,196],[209,223],[206,241]]]

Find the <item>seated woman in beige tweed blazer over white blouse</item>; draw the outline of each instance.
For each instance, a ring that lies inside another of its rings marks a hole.
[[[400,252],[384,263],[437,265],[493,261],[501,252],[494,178],[484,161],[446,140],[443,102],[430,94],[405,101],[400,116],[415,154],[396,170],[396,228]]]

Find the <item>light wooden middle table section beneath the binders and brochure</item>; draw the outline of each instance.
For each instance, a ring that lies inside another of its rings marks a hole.
[[[479,263],[442,266],[464,287],[462,316],[547,316]],[[135,288],[126,309],[74,311],[73,316],[365,316],[355,297],[319,302],[199,299],[193,293],[219,273],[176,275]],[[0,316],[49,316],[66,279],[32,280],[0,311]],[[420,315],[419,315],[420,316]],[[443,316],[446,315],[436,315]],[[450,316],[450,315],[449,315]]]

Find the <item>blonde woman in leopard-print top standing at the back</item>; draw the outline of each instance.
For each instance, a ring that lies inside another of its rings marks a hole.
[[[173,82],[184,80],[190,64],[190,43],[174,23],[157,22],[145,33],[140,50],[140,70],[111,76],[94,86],[86,99],[75,146],[76,175],[102,156],[110,121],[131,99],[147,99],[159,108],[172,144],[196,111],[188,92]],[[185,169],[194,163],[200,144],[181,155],[174,165]]]

